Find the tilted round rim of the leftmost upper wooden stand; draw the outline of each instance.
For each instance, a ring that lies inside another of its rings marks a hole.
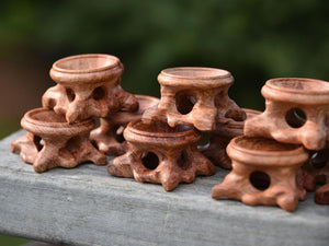
[[[86,54],[57,60],[50,69],[50,77],[57,83],[95,83],[117,78],[123,65],[115,56]]]

